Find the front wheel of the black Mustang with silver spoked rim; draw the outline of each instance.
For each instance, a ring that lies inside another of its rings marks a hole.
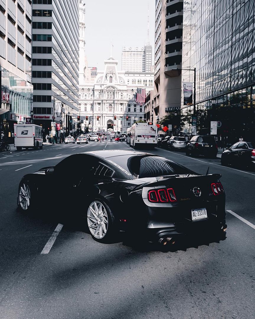
[[[33,187],[28,182],[22,182],[18,186],[18,209],[29,212],[33,209]]]

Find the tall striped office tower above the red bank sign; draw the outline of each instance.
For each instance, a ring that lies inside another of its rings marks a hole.
[[[49,133],[52,120],[62,123],[63,133],[68,134],[77,118],[82,2],[33,0],[34,123],[42,125],[44,134]]]

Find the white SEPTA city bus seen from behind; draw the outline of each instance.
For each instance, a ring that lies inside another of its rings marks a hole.
[[[138,145],[155,147],[157,145],[157,126],[152,122],[134,123],[127,129],[127,143],[134,148]]]

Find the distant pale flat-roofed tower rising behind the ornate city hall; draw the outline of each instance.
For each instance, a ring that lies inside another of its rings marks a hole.
[[[152,46],[122,47],[122,72],[150,72],[152,65]]]

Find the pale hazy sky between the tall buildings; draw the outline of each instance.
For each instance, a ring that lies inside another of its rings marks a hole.
[[[142,47],[147,42],[148,4],[149,39],[154,45],[155,0],[84,0],[85,54],[88,65],[104,70],[104,60],[111,55],[119,61],[123,46]]]

